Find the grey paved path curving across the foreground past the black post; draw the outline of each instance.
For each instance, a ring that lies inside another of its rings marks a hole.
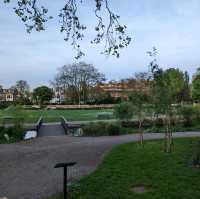
[[[163,138],[145,134],[145,140]],[[196,137],[200,132],[176,133],[174,137]],[[139,135],[116,137],[50,136],[16,144],[0,145],[0,197],[46,199],[62,191],[62,171],[57,162],[77,161],[70,177],[92,172],[114,145],[137,141]]]

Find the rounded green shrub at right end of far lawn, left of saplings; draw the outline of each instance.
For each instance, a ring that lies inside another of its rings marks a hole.
[[[133,106],[130,102],[122,102],[115,106],[114,115],[116,118],[129,121],[133,117]]]

